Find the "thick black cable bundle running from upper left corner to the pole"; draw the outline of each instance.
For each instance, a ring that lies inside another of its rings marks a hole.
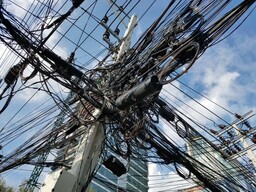
[[[80,1],[77,1],[80,2]],[[76,4],[77,6],[78,4]],[[67,61],[63,60],[61,57],[59,57],[57,54],[55,54],[53,51],[44,48],[43,44],[40,44],[39,46],[34,45],[33,42],[31,42],[30,39],[28,39],[23,33],[21,33],[8,19],[6,19],[4,17],[4,12],[6,12],[6,10],[1,9],[0,10],[0,23],[2,23],[8,30],[8,32],[10,33],[10,35],[13,37],[13,39],[19,44],[19,46],[21,48],[23,48],[23,50],[25,50],[27,53],[31,54],[31,50],[33,50],[33,54],[35,56],[35,54],[40,55],[41,58],[43,58],[45,61],[47,61],[48,63],[51,64],[51,68],[58,74],[58,76],[60,76],[62,79],[65,79],[67,81],[70,82],[70,84],[72,84],[71,81],[71,77],[76,77],[79,80],[83,80],[86,84],[88,84],[88,79],[85,78],[83,72],[81,72],[80,70],[78,70],[77,68],[75,68],[74,66],[70,65]],[[75,92],[79,92],[80,96],[82,96],[84,99],[86,99],[87,101],[89,101],[91,104],[93,104],[95,107],[97,108],[101,108],[101,105],[96,102],[95,100],[93,100],[88,93],[86,93],[84,90],[77,90],[76,88],[78,88],[77,86],[73,86],[73,85],[69,85],[66,83],[63,83],[61,81],[59,81],[58,78],[53,77],[52,75],[50,75],[47,71],[39,68],[37,66],[37,63],[31,63],[35,68],[37,68],[37,70],[40,73],[43,73],[44,75],[46,75],[47,77],[50,77],[52,79],[54,79],[55,81],[61,83],[63,86],[75,91]],[[34,75],[34,74],[33,74]],[[92,83],[92,82],[90,82]],[[76,89],[76,90],[74,90]]]

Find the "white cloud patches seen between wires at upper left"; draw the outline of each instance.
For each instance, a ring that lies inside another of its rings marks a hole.
[[[17,0],[15,1],[15,3],[8,3],[7,4],[7,10],[10,11],[12,14],[14,14],[16,17],[18,18],[23,18],[25,16],[25,14],[27,13],[27,9],[33,5],[35,6],[35,4],[32,4],[34,1],[33,0],[28,0],[28,1],[22,1],[22,0]],[[22,5],[22,9],[21,7],[17,6],[17,5]],[[33,25],[41,25],[40,23],[34,22]],[[30,28],[33,28],[31,26],[29,26]],[[51,29],[50,29],[51,30]],[[44,35],[49,34],[50,30],[46,31]],[[54,47],[54,52],[61,56],[63,59],[67,58],[67,48],[64,46],[60,46],[57,45],[56,43],[58,42],[59,39],[59,34],[58,33],[53,33],[51,35],[51,37],[48,39],[48,41],[46,42],[46,45],[49,48],[53,48]],[[6,49],[6,46],[3,44],[0,44],[0,50],[4,53],[2,55],[2,57],[0,58],[0,62],[1,62],[1,68],[0,68],[0,78],[4,78],[4,76],[6,75],[7,71],[9,70],[9,68],[12,65],[15,65],[19,62],[19,58],[13,54],[11,52],[11,50],[8,51],[4,51]],[[15,62],[14,62],[15,61]],[[44,65],[48,65],[47,63],[44,63]],[[28,66],[25,71],[24,71],[24,76],[28,76],[31,72],[33,71],[33,69]],[[40,79],[39,75],[35,76],[33,79],[28,81],[28,84],[33,84],[35,82],[40,82],[42,79]],[[59,85],[57,82],[53,81],[53,80],[49,80],[48,83],[53,87],[54,90],[56,90],[57,92],[59,92],[60,90],[64,90],[64,87]],[[18,83],[18,85],[16,87],[19,87],[21,84]],[[25,85],[25,86],[26,86]],[[35,88],[39,88],[41,87],[40,84],[37,84],[34,86]],[[67,90],[64,90],[65,92]],[[36,89],[24,89],[21,92],[18,92],[16,94],[16,97],[18,99],[21,99],[22,101],[26,101],[28,100],[32,95],[34,95],[34,93],[36,93],[37,90]],[[66,95],[66,94],[64,94]],[[48,94],[44,91],[39,91],[35,94],[35,96],[32,98],[31,102],[38,102],[38,101],[42,101],[45,100],[46,98],[48,98]]]

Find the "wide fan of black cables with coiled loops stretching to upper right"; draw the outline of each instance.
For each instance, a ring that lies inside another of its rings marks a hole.
[[[202,53],[238,20],[237,15],[245,13],[254,1],[244,1],[221,15],[229,3],[190,1],[180,5],[171,1],[170,7],[123,59],[124,65],[130,68],[125,68],[119,80],[132,79],[127,77],[129,73],[136,76],[133,80],[136,84],[156,74],[162,84],[167,84],[188,72]]]

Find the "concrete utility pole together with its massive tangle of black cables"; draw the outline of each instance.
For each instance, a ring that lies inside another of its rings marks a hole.
[[[73,6],[71,9],[51,23],[51,26],[56,27],[54,27],[54,30],[52,30],[50,34],[53,34],[56,28],[82,3],[82,1],[72,2]],[[106,29],[103,39],[108,43],[109,50],[111,50],[112,53],[118,53],[114,56],[116,62],[114,63],[114,68],[110,70],[110,68],[108,68],[109,66],[106,68],[102,67],[98,71],[95,70],[96,72],[93,71],[90,74],[92,77],[89,75],[86,76],[82,71],[70,65],[69,62],[44,47],[44,43],[49,36],[45,38],[44,41],[40,42],[39,45],[36,45],[26,37],[26,35],[20,33],[15,25],[12,25],[12,23],[6,19],[5,15],[0,12],[0,20],[6,27],[6,31],[9,32],[10,36],[13,37],[23,51],[29,55],[34,67],[38,67],[43,75],[62,83],[71,91],[76,91],[78,96],[85,100],[86,104],[92,106],[92,109],[88,112],[92,114],[90,116],[91,118],[88,118],[90,121],[89,126],[75,125],[75,127],[72,127],[72,130],[66,132],[66,138],[69,138],[72,137],[73,131],[76,129],[84,130],[78,145],[71,150],[72,155],[76,154],[75,159],[72,160],[71,167],[65,165],[59,169],[53,170],[53,172],[47,176],[41,188],[42,192],[75,192],[84,191],[86,189],[88,182],[91,180],[91,174],[97,164],[104,141],[102,122],[98,121],[98,118],[100,118],[102,114],[105,118],[113,118],[111,123],[119,126],[117,131],[123,135],[124,142],[128,143],[129,140],[132,140],[135,143],[139,143],[139,139],[143,142],[147,142],[152,146],[152,150],[155,150],[156,156],[162,159],[165,164],[181,164],[193,173],[206,187],[215,192],[221,191],[220,186],[205,175],[209,170],[214,174],[217,174],[216,171],[188,157],[187,154],[182,153],[177,146],[166,139],[159,129],[155,129],[156,126],[152,123],[153,120],[151,119],[152,116],[150,112],[155,113],[157,117],[161,116],[165,118],[168,122],[173,122],[173,117],[175,116],[180,122],[187,125],[186,121],[178,117],[177,114],[169,113],[171,109],[169,109],[166,104],[156,102],[163,84],[173,81],[187,71],[198,56],[205,51],[208,45],[214,43],[214,38],[223,35],[228,30],[228,27],[239,18],[237,15],[242,15],[254,1],[243,1],[243,3],[236,6],[233,10],[224,14],[222,18],[219,18],[216,21],[217,24],[212,23],[212,25],[210,25],[209,23],[210,27],[207,27],[207,29],[203,28],[205,21],[204,15],[201,14],[211,14],[211,12],[218,13],[222,10],[222,6],[214,11],[202,10],[202,12],[195,12],[189,4],[189,6],[186,6],[184,10],[182,10],[181,14],[177,15],[177,18],[169,21],[169,18],[165,18],[165,15],[168,15],[168,11],[170,11],[169,13],[172,12],[171,7],[174,2],[175,1],[171,1],[169,3],[161,16],[151,25],[145,36],[134,46],[135,50],[132,51],[131,55],[128,55],[127,58],[123,56],[130,46],[131,34],[137,24],[136,16],[131,18],[123,39],[119,38],[115,31],[112,31],[110,27],[106,25],[107,20],[102,21],[101,25]],[[201,3],[202,1],[199,1],[198,5]],[[208,7],[198,5],[195,7]],[[215,19],[213,19],[215,17],[215,14],[206,15],[209,21],[215,21]],[[171,25],[167,30],[163,29],[166,24]],[[194,25],[197,24],[198,26],[195,27]],[[194,28],[196,28],[195,31],[193,31]],[[182,37],[187,32],[189,32],[190,35],[184,40],[176,39]],[[161,35],[155,36],[157,38],[154,39],[154,33]],[[110,34],[119,40],[119,50],[115,50],[116,47],[111,44],[109,39]],[[174,43],[173,41],[175,40],[178,42]],[[172,46],[172,50],[169,49],[171,44],[175,44]],[[147,47],[151,47],[151,50],[144,51]],[[37,59],[38,56],[50,64],[50,69],[54,71],[53,73],[49,73],[49,71],[44,70],[43,67],[39,67],[41,63],[37,63],[39,61],[39,59]],[[107,57],[109,57],[109,55],[107,55]],[[189,64],[188,68],[177,74],[178,69],[185,64]],[[116,77],[107,79],[105,72],[111,73],[109,74],[110,76],[116,75]],[[95,79],[93,78],[94,75],[96,76]],[[133,76],[135,76],[135,78]],[[73,77],[83,81],[84,87],[77,85],[77,82],[73,81]],[[104,80],[107,81],[111,89],[105,87],[105,84],[103,84]],[[120,83],[120,80],[122,80],[122,83]],[[102,92],[100,89],[103,87],[105,88],[105,92]],[[158,108],[155,109],[154,105],[157,105]],[[60,119],[62,118],[63,117],[60,116]],[[176,123],[176,126],[178,124],[177,121],[173,123]],[[232,127],[236,128],[236,126]],[[147,131],[147,134],[143,131]],[[183,139],[187,137],[187,130],[183,136]],[[64,142],[65,140],[63,143]],[[246,144],[244,143],[243,145]],[[127,148],[129,147],[128,145]],[[252,156],[252,153],[249,153]],[[40,160],[44,161],[46,156],[47,154],[44,154]],[[204,168],[199,169],[201,168],[200,166]],[[40,171],[41,168],[37,172]],[[38,174],[36,174],[36,177],[37,175]],[[181,177],[185,178],[184,175]]]

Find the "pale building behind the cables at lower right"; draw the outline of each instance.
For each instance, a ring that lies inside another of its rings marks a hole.
[[[214,182],[221,186],[223,191],[255,191],[254,177],[237,160],[226,160],[219,152],[212,148],[201,137],[195,137],[187,145],[189,154],[199,162],[207,165],[215,172],[212,178]],[[196,183],[200,183],[195,177],[192,178]],[[208,191],[205,188],[195,187],[181,191]]]

